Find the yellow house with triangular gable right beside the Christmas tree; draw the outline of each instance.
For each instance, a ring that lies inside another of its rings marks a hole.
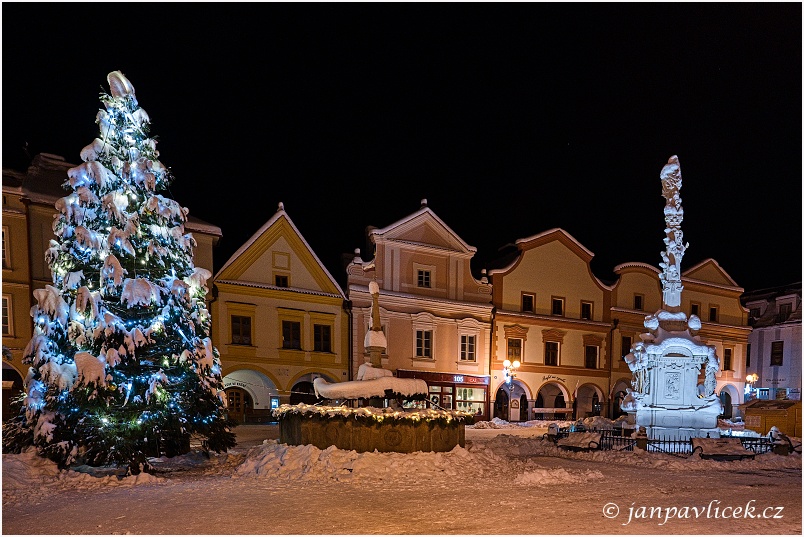
[[[269,421],[280,404],[314,403],[315,378],[348,379],[346,297],[281,203],[213,284],[213,342],[231,417]]]

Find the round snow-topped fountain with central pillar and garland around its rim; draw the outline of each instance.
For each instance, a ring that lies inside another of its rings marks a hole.
[[[282,405],[274,411],[279,420],[279,441],[289,445],[312,444],[319,449],[335,446],[358,452],[451,451],[465,446],[465,425],[473,414],[459,410],[425,408],[427,383],[422,379],[397,378],[382,368],[387,340],[380,324],[376,282],[369,283],[372,298],[371,329],[364,346],[368,359],[356,380],[329,383],[313,381],[316,395],[333,405]],[[368,401],[370,406],[357,406]],[[405,408],[406,402],[419,406]],[[388,406],[371,405],[388,403]]]

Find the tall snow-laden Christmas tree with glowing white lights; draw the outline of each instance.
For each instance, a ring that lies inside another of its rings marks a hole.
[[[235,445],[209,337],[206,279],[193,265],[188,210],[162,196],[172,174],[150,119],[119,71],[101,93],[100,134],[56,202],[53,284],[34,291],[20,413],[3,451],[36,446],[61,467],[147,467],[148,457]]]

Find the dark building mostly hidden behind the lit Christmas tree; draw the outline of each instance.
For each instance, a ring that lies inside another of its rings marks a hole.
[[[4,411],[9,400],[22,390],[28,372],[22,353],[33,333],[33,292],[53,281],[45,251],[56,239],[52,227],[56,201],[68,193],[61,185],[67,180],[67,170],[75,166],[64,157],[40,153],[24,172],[3,169]],[[195,266],[212,273],[212,249],[220,240],[220,228],[193,216],[184,227],[197,243]],[[4,417],[8,415],[3,413]]]

